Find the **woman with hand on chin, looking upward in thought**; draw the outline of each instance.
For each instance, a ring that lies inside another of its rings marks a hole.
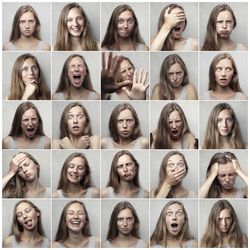
[[[19,56],[12,69],[8,100],[50,99],[50,91],[37,58],[31,54]]]

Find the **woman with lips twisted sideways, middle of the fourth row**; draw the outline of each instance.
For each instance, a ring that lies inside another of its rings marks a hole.
[[[148,198],[140,187],[139,163],[127,150],[115,154],[109,173],[109,181],[101,192],[102,198]]]

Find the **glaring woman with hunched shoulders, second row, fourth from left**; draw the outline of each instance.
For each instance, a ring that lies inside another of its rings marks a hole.
[[[168,55],[160,71],[160,82],[152,91],[152,100],[197,100],[197,92],[188,79],[187,67],[177,54]]]

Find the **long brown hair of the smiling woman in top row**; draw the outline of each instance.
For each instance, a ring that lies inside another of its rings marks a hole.
[[[67,17],[69,11],[73,8],[78,8],[81,12],[81,15],[84,19],[84,30],[81,34],[81,47],[82,50],[98,50],[97,42],[92,37],[92,32],[90,29],[90,22],[83,8],[78,3],[69,3],[64,6],[61,11],[57,34],[56,34],[56,44],[54,50],[72,50],[72,42],[70,39],[70,34],[67,27]]]

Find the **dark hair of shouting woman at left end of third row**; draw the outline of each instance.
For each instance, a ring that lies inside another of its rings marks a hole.
[[[17,107],[16,112],[14,114],[13,121],[12,121],[11,129],[10,129],[10,132],[8,134],[9,136],[12,136],[15,138],[15,137],[22,134],[22,128],[21,128],[22,116],[29,109],[34,109],[36,111],[36,115],[38,118],[38,127],[36,130],[36,135],[45,135],[43,132],[42,117],[41,117],[37,107],[32,102],[28,101],[28,102],[21,103]]]

